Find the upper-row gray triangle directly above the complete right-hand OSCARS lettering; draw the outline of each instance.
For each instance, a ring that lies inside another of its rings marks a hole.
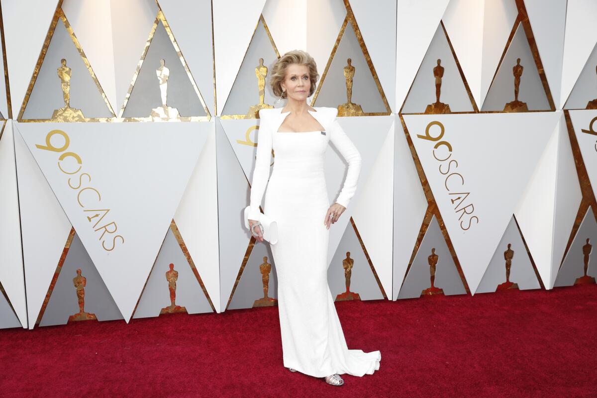
[[[469,94],[466,92],[456,60],[450,50],[450,44],[448,44],[448,39],[440,24],[408,92],[402,113],[425,112],[427,105],[436,101],[433,68],[438,66],[438,59],[441,60],[441,66],[444,67],[439,100],[450,105],[451,112],[473,112]]]

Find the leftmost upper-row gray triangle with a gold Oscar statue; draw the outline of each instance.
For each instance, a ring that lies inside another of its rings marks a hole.
[[[112,112],[91,78],[81,54],[59,18],[23,112],[23,119],[50,119],[54,110],[64,107],[61,81],[57,72],[62,58],[66,60],[66,66],[71,69],[70,106],[81,109],[85,118],[112,117]]]

